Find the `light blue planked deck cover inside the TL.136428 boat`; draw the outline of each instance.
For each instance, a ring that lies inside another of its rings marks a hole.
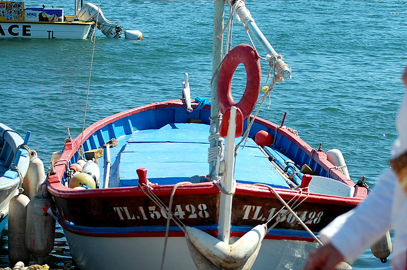
[[[209,126],[206,124],[170,123],[158,130],[137,130],[118,138],[119,145],[110,148],[109,187],[136,186],[136,169],[142,167],[147,168],[149,181],[158,184],[194,182],[191,177],[208,175],[208,136]],[[240,139],[237,138],[236,142]],[[101,166],[104,163],[101,158]],[[289,188],[276,167],[251,139],[240,147],[235,168],[235,179],[240,183]],[[102,185],[103,172],[100,179]]]

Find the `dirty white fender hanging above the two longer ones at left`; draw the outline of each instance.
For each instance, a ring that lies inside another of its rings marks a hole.
[[[37,156],[37,152],[34,151],[34,155],[28,165],[27,173],[25,174],[24,181],[21,187],[24,189],[22,192],[28,198],[32,199],[38,190],[38,182],[45,177],[44,163]]]

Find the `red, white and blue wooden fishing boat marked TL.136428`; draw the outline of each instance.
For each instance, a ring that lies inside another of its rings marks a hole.
[[[223,59],[224,2],[214,5],[211,106],[190,98],[186,74],[183,98],[94,123],[65,141],[49,170],[55,215],[83,270],[300,269],[315,234],[367,195],[338,151],[256,116],[257,51],[238,45]],[[229,5],[275,71],[265,100],[290,70],[244,3]],[[247,84],[235,103],[239,63]]]

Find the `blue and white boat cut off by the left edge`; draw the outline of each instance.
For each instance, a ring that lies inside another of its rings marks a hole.
[[[0,231],[8,221],[10,199],[18,193],[30,165],[31,155],[25,140],[10,127],[0,123]]]

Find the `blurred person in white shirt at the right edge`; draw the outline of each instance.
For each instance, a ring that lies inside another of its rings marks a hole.
[[[407,67],[402,76],[407,87]],[[407,270],[407,95],[397,114],[398,138],[389,168],[369,196],[319,233],[324,246],[310,252],[303,270],[333,270],[354,261],[389,229],[394,231],[392,267]]]

